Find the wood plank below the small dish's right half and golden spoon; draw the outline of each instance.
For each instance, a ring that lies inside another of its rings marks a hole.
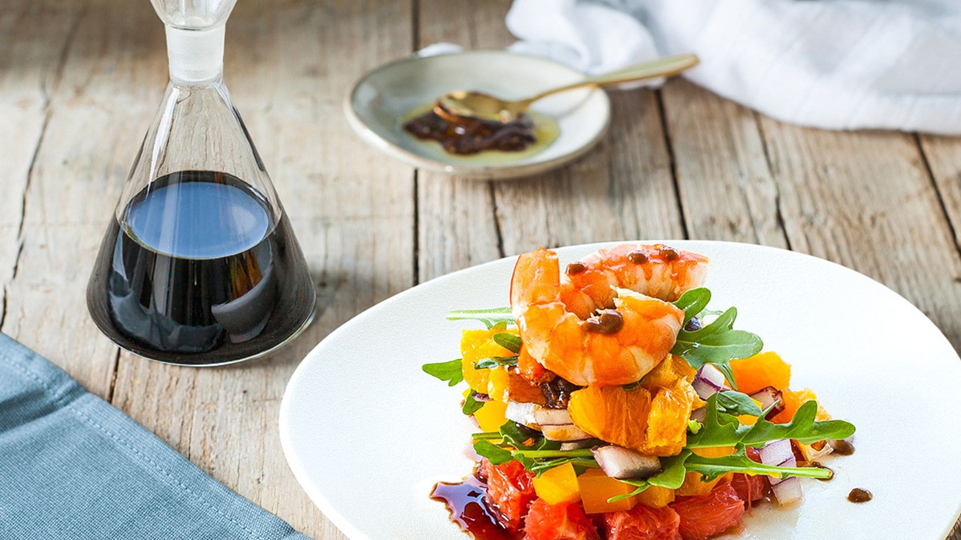
[[[604,141],[555,172],[495,184],[504,248],[682,238],[671,160],[652,90],[611,93]]]

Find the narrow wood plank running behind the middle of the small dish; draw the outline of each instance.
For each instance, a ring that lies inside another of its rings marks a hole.
[[[509,0],[420,0],[417,48],[438,41],[504,47],[513,40],[504,25],[509,7]],[[495,213],[490,181],[418,171],[418,281],[503,257]]]

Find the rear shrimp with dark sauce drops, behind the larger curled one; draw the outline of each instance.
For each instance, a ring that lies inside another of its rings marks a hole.
[[[664,244],[623,244],[601,249],[567,265],[561,277],[561,302],[581,319],[596,309],[613,307],[611,287],[628,288],[674,302],[704,282],[706,257]]]

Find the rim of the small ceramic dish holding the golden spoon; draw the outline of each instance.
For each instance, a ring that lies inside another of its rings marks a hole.
[[[346,116],[347,118],[347,124],[351,127],[351,130],[353,130],[354,133],[360,137],[361,140],[373,146],[377,150],[380,150],[382,153],[390,156],[391,158],[394,158],[396,160],[402,160],[406,162],[408,165],[413,165],[414,167],[417,167],[418,169],[421,169],[421,170],[442,173],[450,176],[457,176],[457,177],[471,178],[471,179],[486,179],[486,180],[505,180],[505,179],[528,177],[528,176],[532,176],[538,173],[542,173],[542,172],[554,169],[556,167],[559,167],[571,161],[578,160],[581,156],[583,156],[588,151],[590,151],[595,146],[597,146],[597,144],[601,142],[601,140],[604,138],[604,135],[607,134],[607,130],[610,128],[610,97],[607,95],[607,92],[605,92],[602,88],[594,88],[590,90],[588,95],[595,95],[597,93],[600,93],[602,100],[604,102],[604,125],[601,127],[600,130],[598,130],[597,134],[595,134],[589,141],[587,141],[586,144],[581,145],[578,149],[574,150],[573,152],[568,152],[567,154],[558,156],[553,160],[536,161],[533,163],[525,163],[525,164],[510,164],[509,162],[507,162],[507,163],[501,163],[501,164],[465,163],[462,165],[451,165],[447,163],[442,163],[440,161],[431,160],[430,158],[425,158],[423,156],[415,154],[383,138],[381,135],[377,135],[374,132],[374,130],[370,128],[370,126],[368,126],[363,120],[360,119],[359,115],[357,114],[357,110],[355,110],[354,108],[354,95],[357,92],[357,88],[365,80],[367,80],[368,77],[370,77],[374,73],[377,73],[378,71],[387,69],[389,67],[394,67],[398,64],[409,63],[414,61],[425,61],[425,60],[430,60],[438,57],[447,57],[447,56],[474,56],[474,55],[522,57],[522,58],[535,60],[535,61],[543,61],[545,63],[550,63],[550,64],[554,64],[555,66],[562,67],[572,73],[579,75],[579,77],[581,78],[586,77],[583,73],[580,73],[578,70],[574,69],[573,67],[567,64],[561,63],[559,61],[554,61],[554,60],[546,59],[543,57],[537,57],[537,56],[521,54],[521,53],[510,53],[500,49],[472,49],[472,50],[465,50],[465,51],[440,53],[440,54],[430,55],[430,56],[417,56],[416,54],[414,54],[407,57],[382,63],[381,65],[378,65],[377,67],[357,77],[357,80],[355,80],[354,83],[347,90],[347,93],[344,95],[344,99],[342,102],[342,108],[344,110],[344,116]]]

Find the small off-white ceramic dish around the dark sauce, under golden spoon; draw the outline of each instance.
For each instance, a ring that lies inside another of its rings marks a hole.
[[[590,150],[607,129],[610,101],[600,89],[571,90],[531,106],[556,122],[554,141],[538,152],[445,152],[433,140],[408,135],[403,123],[442,94],[465,88],[506,99],[572,83],[583,75],[566,65],[505,51],[467,51],[392,61],[364,75],[348,92],[344,112],[365,141],[418,168],[457,176],[512,178],[544,172]]]

